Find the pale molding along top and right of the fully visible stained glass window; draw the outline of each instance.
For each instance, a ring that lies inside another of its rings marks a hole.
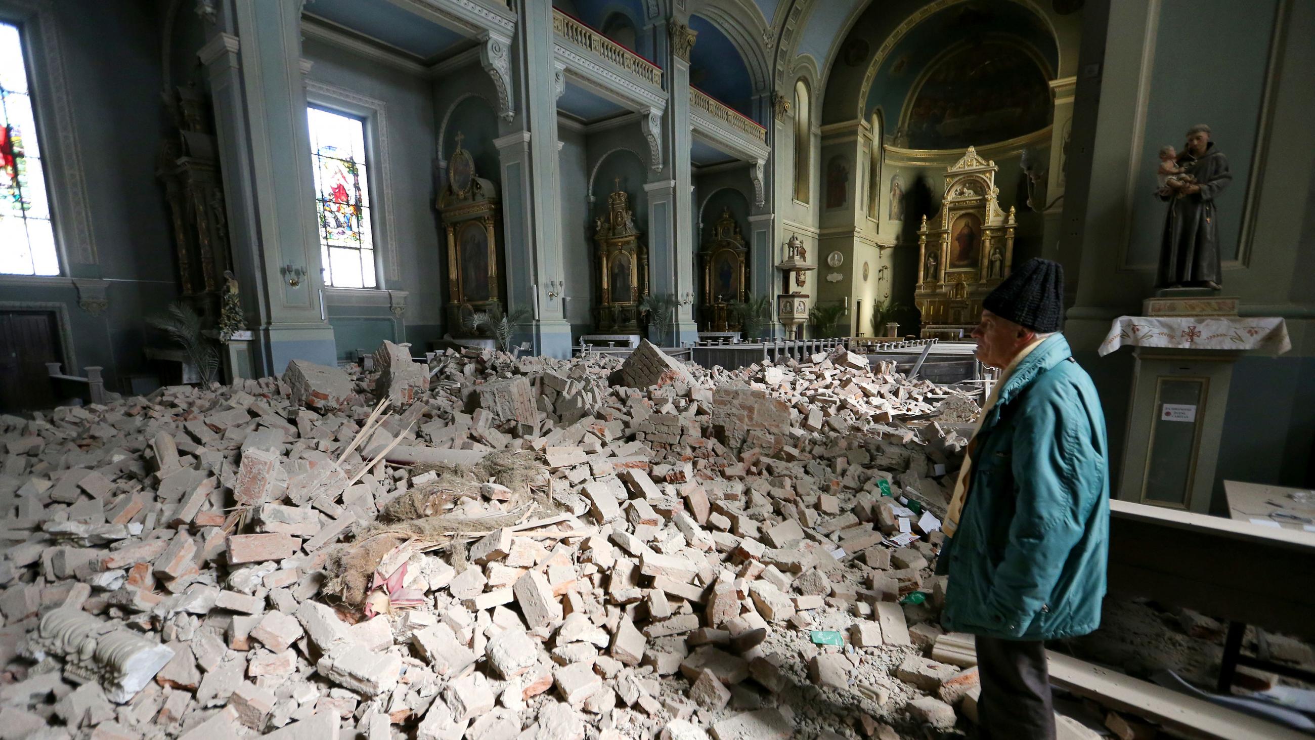
[[[306,80],[306,104],[334,108],[343,113],[366,120],[367,167],[373,171],[370,177],[370,202],[376,220],[371,223],[375,231],[375,273],[384,275],[379,288],[387,288],[388,281],[401,280],[398,263],[397,230],[393,218],[393,176],[388,149],[388,104],[358,92],[331,85],[320,80]],[[309,152],[308,152],[309,154]],[[380,229],[383,226],[383,229]],[[385,269],[379,269],[383,263]]]

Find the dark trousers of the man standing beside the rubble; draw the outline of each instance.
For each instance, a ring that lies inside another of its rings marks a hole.
[[[977,636],[981,740],[1055,740],[1045,643]]]

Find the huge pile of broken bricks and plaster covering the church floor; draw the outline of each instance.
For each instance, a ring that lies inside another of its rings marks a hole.
[[[889,739],[972,711],[972,643],[934,626],[964,439],[927,419],[956,392],[844,351],[406,355],[0,417],[0,733]]]

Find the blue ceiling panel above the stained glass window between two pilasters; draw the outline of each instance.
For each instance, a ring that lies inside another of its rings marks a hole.
[[[422,62],[437,62],[468,42],[462,34],[388,0],[316,0],[306,4],[306,14],[409,51]]]

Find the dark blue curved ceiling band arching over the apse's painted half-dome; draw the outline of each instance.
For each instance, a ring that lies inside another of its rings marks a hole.
[[[1035,49],[1049,67],[1043,71],[1053,75],[1059,49],[1041,18],[1018,3],[973,0],[930,16],[899,39],[872,80],[864,116],[881,106],[886,134],[893,133],[927,64],[949,46],[984,34],[1005,35]]]

